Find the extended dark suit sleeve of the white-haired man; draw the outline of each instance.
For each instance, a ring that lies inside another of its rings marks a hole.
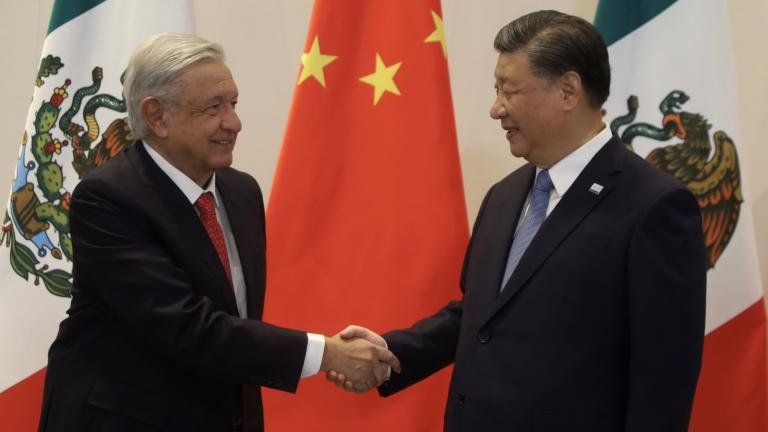
[[[95,297],[91,307],[193,373],[295,391],[305,333],[231,316],[198,294],[141,204],[111,183],[85,179],[70,212],[77,289]]]

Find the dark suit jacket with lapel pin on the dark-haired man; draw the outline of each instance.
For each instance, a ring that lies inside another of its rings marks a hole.
[[[403,373],[380,392],[453,362],[447,431],[687,431],[706,286],[696,200],[614,138],[499,294],[534,174],[526,165],[488,191],[463,300],[385,335]]]

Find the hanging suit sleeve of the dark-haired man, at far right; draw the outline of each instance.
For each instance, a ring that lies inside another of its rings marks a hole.
[[[660,197],[633,235],[628,266],[626,431],[688,429],[704,340],[706,253],[686,189]]]

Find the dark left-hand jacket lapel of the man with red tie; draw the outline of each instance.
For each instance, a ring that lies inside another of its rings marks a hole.
[[[173,221],[169,224],[171,228],[168,229],[167,234],[173,237],[177,245],[189,245],[185,249],[189,254],[198,257],[201,264],[199,269],[204,269],[203,272],[187,269],[191,281],[197,281],[198,277],[194,275],[201,276],[203,281],[210,280],[211,283],[198,284],[205,290],[201,294],[211,297],[219,305],[224,305],[228,313],[237,315],[237,305],[231,294],[229,280],[221,266],[216,249],[200,221],[200,216],[178,186],[155,164],[144,149],[144,144],[137,142],[133,149],[135,151],[128,153],[129,160],[138,168],[139,175],[145,184],[156,192],[147,195],[147,208],[151,209],[149,211],[166,210],[166,214],[161,217]],[[152,202],[153,199],[156,202]]]

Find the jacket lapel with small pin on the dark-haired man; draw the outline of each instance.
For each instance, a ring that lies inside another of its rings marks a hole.
[[[616,183],[617,175],[621,171],[621,162],[625,152],[626,150],[615,138],[597,152],[544,221],[536,237],[533,238],[520,259],[517,269],[499,295],[498,301],[493,307],[486,309],[489,311],[489,315],[483,321],[490,319],[514,297],[557,247],[566,240],[568,235],[605,197],[610,195]],[[603,186],[600,193],[596,194],[590,190],[594,183]],[[513,225],[512,229],[515,226]],[[509,244],[503,253],[505,264],[508,255]],[[503,275],[503,273],[504,269],[502,268],[499,274]]]

